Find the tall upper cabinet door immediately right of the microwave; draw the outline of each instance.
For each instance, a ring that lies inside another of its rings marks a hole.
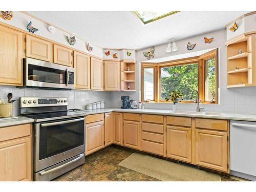
[[[90,56],[74,51],[75,88],[90,89]]]

